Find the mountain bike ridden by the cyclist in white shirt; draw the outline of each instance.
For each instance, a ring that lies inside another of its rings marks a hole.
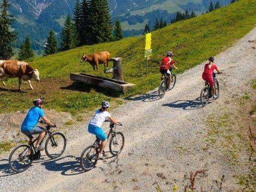
[[[106,120],[110,122],[109,120]],[[109,141],[109,151],[113,156],[118,155],[123,148],[124,145],[124,136],[121,132],[115,132],[116,124],[110,122],[109,129],[105,131],[107,133],[107,140],[110,137]],[[88,171],[92,169],[98,160],[98,152],[100,147],[100,140],[96,137],[94,143],[86,148],[81,153],[80,157],[80,165],[83,170]],[[103,151],[104,155],[104,151]]]

